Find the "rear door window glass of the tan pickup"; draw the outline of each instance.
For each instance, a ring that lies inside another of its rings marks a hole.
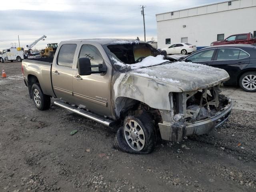
[[[58,54],[58,65],[72,67],[76,44],[64,44]]]

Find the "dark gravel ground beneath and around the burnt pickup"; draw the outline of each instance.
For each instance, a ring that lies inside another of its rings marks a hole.
[[[0,79],[1,192],[256,191],[255,109],[234,109],[210,134],[126,154],[112,147],[112,128],[53,104],[37,110],[21,63],[2,66],[9,77]]]

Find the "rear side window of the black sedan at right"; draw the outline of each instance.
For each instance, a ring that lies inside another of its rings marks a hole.
[[[218,52],[217,61],[223,60],[236,60],[246,58],[249,55],[240,49],[235,48],[222,48]]]

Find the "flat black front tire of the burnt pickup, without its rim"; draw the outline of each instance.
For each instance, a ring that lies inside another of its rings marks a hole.
[[[130,120],[136,121],[144,132],[144,146],[141,150],[134,150],[125,138],[124,127]],[[155,145],[156,130],[154,124],[152,123],[152,118],[150,118],[146,112],[143,112],[140,116],[126,117],[124,120],[124,125],[118,129],[114,138],[114,148],[132,154],[149,154],[154,150]]]

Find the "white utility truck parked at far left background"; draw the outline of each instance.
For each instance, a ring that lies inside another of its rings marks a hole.
[[[0,54],[0,62],[3,63],[5,61],[18,61],[21,62],[24,59],[24,50],[17,50],[17,48],[12,47],[10,49],[4,49],[2,54]]]

